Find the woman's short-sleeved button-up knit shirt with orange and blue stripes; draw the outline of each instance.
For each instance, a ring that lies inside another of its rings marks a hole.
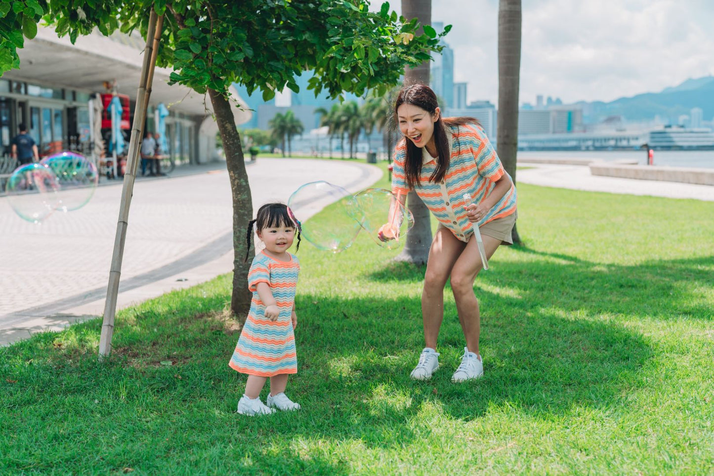
[[[429,177],[436,170],[436,159],[431,157],[425,147],[415,192],[444,227],[462,242],[468,242],[473,229],[466,215],[468,202],[463,199],[463,195],[468,193],[472,203],[481,203],[496,187],[496,181],[507,172],[481,127],[476,124],[446,126],[446,132],[451,134],[450,159],[443,181],[429,182]],[[403,138],[394,151],[393,194],[409,192],[404,173],[406,140],[406,137]],[[493,205],[486,217],[478,222],[478,226],[515,212],[516,187],[511,184],[511,189]]]

